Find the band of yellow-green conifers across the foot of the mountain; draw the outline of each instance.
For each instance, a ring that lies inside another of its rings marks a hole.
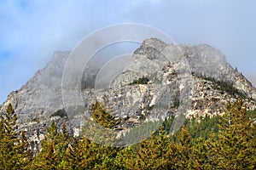
[[[95,108],[102,107],[95,105]],[[96,114],[101,114],[96,111]],[[255,117],[255,111],[249,115]],[[149,139],[129,147],[74,138],[65,124],[52,122],[38,156],[32,156],[24,133],[16,132],[9,105],[0,122],[0,169],[255,169],[256,126],[239,100],[224,116],[187,120],[174,135],[172,117]],[[107,124],[111,127],[109,124]]]

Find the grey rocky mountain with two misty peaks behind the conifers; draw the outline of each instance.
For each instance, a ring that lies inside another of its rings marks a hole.
[[[44,69],[10,93],[1,105],[1,111],[9,103],[13,105],[19,127],[26,130],[31,141],[44,139],[52,120],[59,125],[69,123],[71,115],[63,111],[61,96],[62,72],[68,55],[69,52],[55,52]],[[119,120],[114,128],[122,130],[177,113],[223,114],[227,101],[240,97],[249,110],[256,108],[256,89],[252,83],[227,62],[224,54],[207,44],[175,45],[149,38],[111,82],[106,78],[108,74],[96,81],[99,70],[94,65],[85,71],[81,93],[85,111],[73,115],[76,123],[70,130],[75,135],[79,134],[83,115],[90,117],[90,105],[96,99]],[[110,88],[101,88],[106,87],[104,82],[110,83]],[[95,85],[99,88],[92,88]]]

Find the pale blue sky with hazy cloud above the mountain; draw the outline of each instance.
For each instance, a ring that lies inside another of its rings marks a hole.
[[[178,44],[207,43],[256,83],[254,0],[0,0],[0,104],[92,31],[138,23]]]

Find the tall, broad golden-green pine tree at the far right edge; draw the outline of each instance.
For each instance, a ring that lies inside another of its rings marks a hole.
[[[255,130],[241,99],[227,105],[218,133],[206,144],[212,168],[255,169]]]

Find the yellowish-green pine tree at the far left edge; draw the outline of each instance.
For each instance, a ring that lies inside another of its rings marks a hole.
[[[29,166],[32,158],[25,133],[18,130],[17,116],[11,104],[0,116],[0,169],[20,169]]]

